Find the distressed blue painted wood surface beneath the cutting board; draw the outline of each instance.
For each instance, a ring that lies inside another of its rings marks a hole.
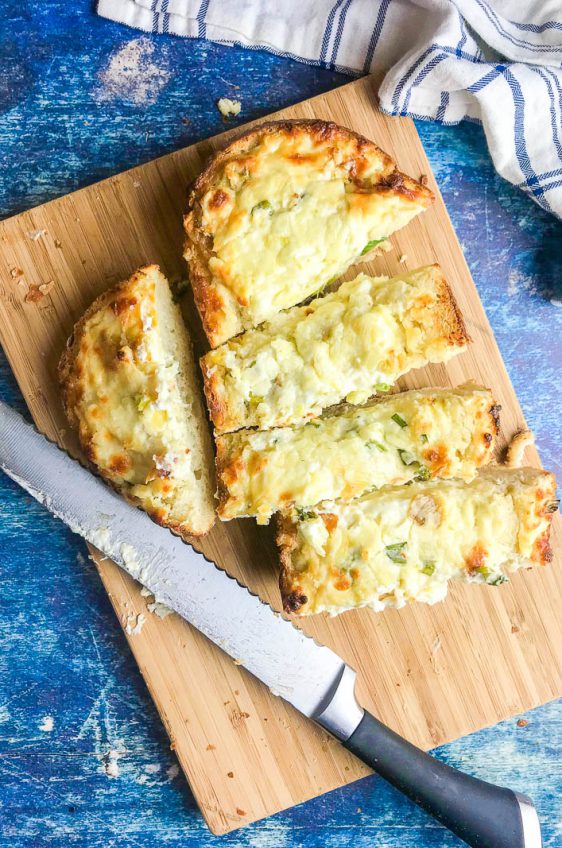
[[[89,0],[4,0],[0,216],[340,85],[264,53],[141,36]],[[239,89],[231,85],[240,86]],[[560,471],[562,224],[497,177],[478,126],[419,124],[546,466]],[[24,404],[3,358],[0,395]],[[82,543],[0,478],[0,846],[208,848],[205,828]],[[562,845],[562,708],[438,755],[531,794]],[[434,848],[460,842],[367,778],[221,843]]]

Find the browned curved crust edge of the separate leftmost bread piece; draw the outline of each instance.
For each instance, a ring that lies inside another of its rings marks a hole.
[[[78,431],[80,444],[84,450],[84,453],[91,463],[96,473],[99,474],[111,487],[125,498],[129,503],[133,504],[133,506],[141,507],[144,509],[150,517],[162,527],[167,527],[170,530],[181,535],[183,538],[197,538],[205,535],[208,530],[193,530],[190,528],[186,530],[185,525],[177,520],[174,520],[170,517],[169,514],[166,514],[160,509],[154,508],[149,509],[146,505],[141,504],[141,501],[131,495],[130,487],[128,484],[119,485],[114,477],[109,473],[106,469],[100,466],[96,461],[96,456],[93,454],[90,446],[82,437],[80,433],[80,418],[77,414],[77,407],[80,403],[83,389],[81,385],[82,381],[82,372],[79,364],[79,354],[80,354],[80,344],[84,334],[87,331],[87,326],[92,317],[94,317],[98,312],[110,307],[115,311],[119,310],[119,304],[123,304],[126,306],[134,305],[138,302],[136,296],[134,295],[134,289],[136,284],[142,280],[147,274],[151,273],[160,273],[160,267],[156,264],[144,265],[135,271],[128,279],[123,280],[107,291],[102,292],[94,301],[90,304],[90,306],[83,313],[81,318],[76,322],[72,334],[70,335],[65,350],[63,351],[59,363],[58,363],[58,381],[61,392],[61,400],[62,406],[64,409],[64,413],[71,424],[71,426]],[[204,410],[202,405],[201,413],[204,416]],[[205,440],[203,440],[205,441]],[[208,454],[205,458],[209,465],[212,466],[212,457],[213,452],[211,448],[210,439],[206,440],[208,444],[203,445],[203,450],[206,454]],[[211,525],[212,526],[212,525]]]

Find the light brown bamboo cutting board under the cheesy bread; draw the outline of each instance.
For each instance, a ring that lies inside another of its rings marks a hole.
[[[426,174],[436,191],[413,124],[376,111],[369,79],[279,117],[317,117],[351,127],[388,151],[402,170],[415,177]],[[0,224],[0,340],[36,423],[67,448],[76,445],[66,429],[56,365],[74,321],[102,290],[139,265],[157,262],[170,278],[185,277],[181,216],[187,186],[229,137],[165,156]],[[371,270],[392,274],[438,261],[474,339],[468,352],[447,366],[414,372],[402,386],[481,381],[502,404],[502,439],[510,438],[524,424],[521,410],[441,199],[392,243],[394,250]],[[44,296],[37,288],[43,284],[48,284]],[[192,304],[185,311],[200,341]],[[534,453],[530,459],[538,462]],[[359,696],[369,710],[416,744],[432,748],[562,695],[559,542],[556,516],[556,557],[548,568],[519,573],[501,588],[453,586],[448,599],[434,607],[420,604],[378,615],[358,610],[336,619],[317,617],[305,629],[357,669]],[[270,528],[251,520],[219,525],[201,546],[279,606]],[[134,623],[140,612],[147,615],[142,631],[127,638],[213,833],[367,773],[177,616],[161,620],[148,614],[139,586],[114,564],[99,557],[96,564],[122,624]]]

